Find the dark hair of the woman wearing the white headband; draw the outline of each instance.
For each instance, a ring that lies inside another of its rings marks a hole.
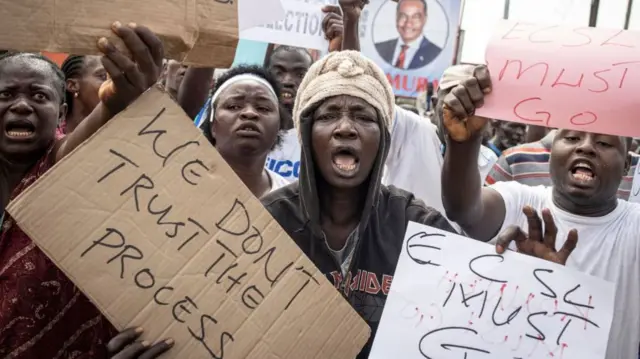
[[[218,91],[218,89],[225,82],[229,81],[230,79],[238,75],[243,75],[243,74],[252,74],[265,79],[271,85],[271,87],[273,87],[273,91],[275,91],[276,93],[276,98],[280,99],[280,84],[278,83],[276,78],[271,74],[271,72],[269,72],[264,67],[256,66],[256,65],[238,65],[236,67],[232,67],[231,69],[226,71],[224,74],[220,75],[220,77],[218,77],[215,81],[215,86],[213,87],[213,90],[211,91],[209,98],[211,98],[213,94],[215,94],[216,91]],[[211,117],[211,106],[215,108],[217,105],[218,105],[217,101],[213,105],[208,105],[204,113],[202,114],[202,116],[204,117],[202,126],[201,126],[202,133],[204,137],[206,137],[207,140],[209,140],[209,142],[213,146],[216,145],[216,140],[211,135],[211,121],[209,120],[209,118]],[[284,126],[289,122],[289,116],[290,116],[289,112],[282,107],[282,105],[280,104],[280,101],[278,101],[278,112],[280,113],[280,131],[278,131],[278,138],[276,139],[276,142],[274,143],[273,148],[279,146],[280,143],[282,143]],[[215,113],[214,113],[214,120],[215,120]]]

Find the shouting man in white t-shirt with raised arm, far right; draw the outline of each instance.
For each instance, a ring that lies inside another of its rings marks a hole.
[[[509,181],[483,188],[472,161],[478,155],[481,134],[472,129],[482,128],[487,119],[468,114],[484,102],[491,78],[485,66],[454,66],[446,71],[466,73],[457,86],[441,90],[438,96],[438,113],[448,119],[442,173],[447,216],[481,241],[503,233],[503,239],[555,240],[554,250],[561,255],[575,248],[567,266],[615,284],[606,358],[636,358],[640,342],[640,205],[617,198],[630,166],[629,141],[559,129],[551,144],[551,186]],[[466,135],[459,131],[463,127]],[[538,223],[537,228],[531,227],[532,221]],[[576,246],[578,234],[580,243]],[[498,239],[498,245],[504,249],[508,243]]]

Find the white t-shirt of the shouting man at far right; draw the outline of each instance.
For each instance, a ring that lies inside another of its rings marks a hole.
[[[558,228],[556,249],[568,232],[578,230],[578,245],[568,267],[615,283],[615,313],[607,346],[607,359],[636,359],[640,343],[640,205],[618,200],[618,207],[603,217],[582,217],[553,203],[551,187],[529,187],[498,182],[490,188],[504,200],[506,216],[500,231],[518,225],[527,231],[525,205],[541,213],[549,208]],[[515,245],[512,249],[515,249]]]

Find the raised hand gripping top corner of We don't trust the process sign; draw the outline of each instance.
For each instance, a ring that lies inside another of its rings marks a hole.
[[[112,31],[132,54],[130,59],[104,37],[98,41],[98,48],[104,54],[102,64],[109,74],[98,96],[112,114],[117,114],[158,81],[164,49],[160,39],[147,27],[122,26],[116,22]]]

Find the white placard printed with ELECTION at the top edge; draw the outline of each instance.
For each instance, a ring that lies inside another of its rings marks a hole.
[[[246,0],[245,0],[246,1]],[[281,0],[284,7],[282,20],[265,23],[240,31],[244,40],[262,41],[280,45],[326,50],[329,42],[322,31],[322,3],[304,0]],[[261,14],[264,6],[252,11]]]

